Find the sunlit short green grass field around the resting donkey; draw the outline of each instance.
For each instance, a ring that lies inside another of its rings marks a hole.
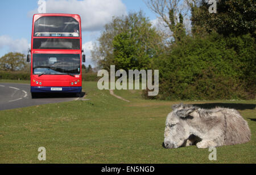
[[[208,149],[162,147],[166,116],[181,101],[142,100],[140,91],[115,90],[127,103],[98,90],[97,82],[82,88],[90,100],[1,110],[0,163],[256,163],[256,114],[247,109],[255,100],[182,101],[243,106],[251,141],[218,147],[217,161],[210,161]],[[39,147],[46,148],[46,161],[38,160]]]

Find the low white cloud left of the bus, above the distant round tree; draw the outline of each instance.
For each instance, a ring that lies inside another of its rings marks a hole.
[[[7,48],[8,52],[20,52],[27,53],[27,49],[30,48],[30,44],[27,39],[14,40],[10,36],[0,36],[0,49]]]

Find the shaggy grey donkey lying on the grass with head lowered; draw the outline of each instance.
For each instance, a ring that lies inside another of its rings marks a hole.
[[[235,109],[201,109],[193,105],[173,105],[166,119],[164,147],[196,144],[197,148],[220,147],[250,141],[250,129]]]

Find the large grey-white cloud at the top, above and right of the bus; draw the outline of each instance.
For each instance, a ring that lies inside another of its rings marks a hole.
[[[127,14],[121,0],[47,0],[46,12],[79,14],[83,31],[98,31],[111,22],[113,16]],[[28,15],[36,13],[37,9],[28,12]]]

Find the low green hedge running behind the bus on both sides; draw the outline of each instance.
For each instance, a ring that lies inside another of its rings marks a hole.
[[[9,80],[30,80],[30,72],[20,72],[20,71],[0,71],[0,79],[9,79]],[[82,80],[87,82],[94,82],[100,79],[97,76],[97,73],[83,73]]]

